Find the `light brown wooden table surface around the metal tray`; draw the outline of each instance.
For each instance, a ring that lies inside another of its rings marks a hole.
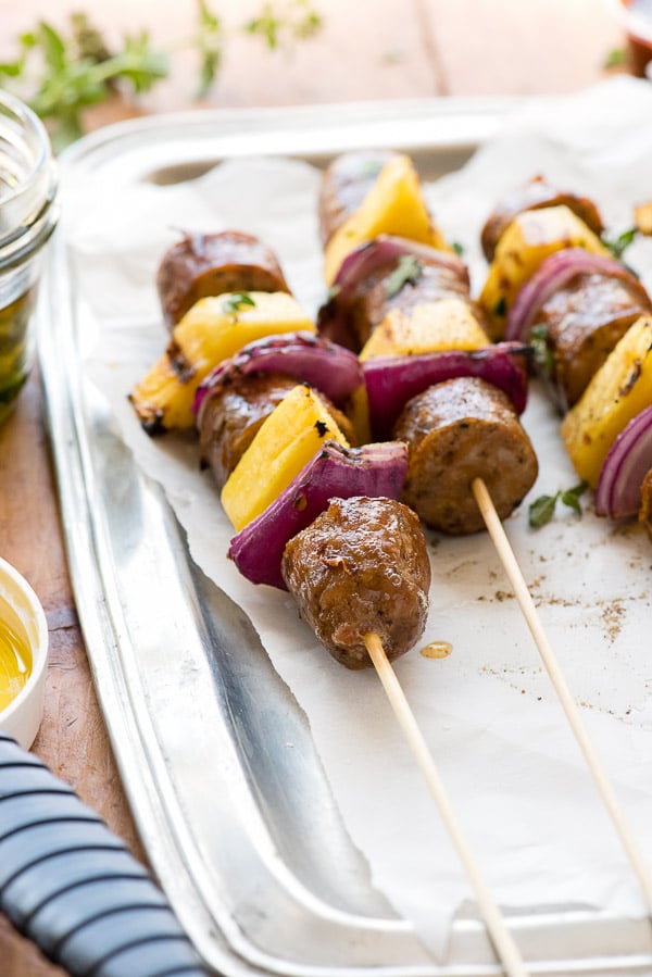
[[[318,103],[432,96],[546,95],[574,91],[605,76],[606,55],[624,38],[602,0],[314,0],[318,37],[266,51],[240,29],[261,3],[214,2],[227,43],[211,107]],[[148,27],[154,46],[192,34],[190,0],[103,0],[48,4],[63,25],[82,7],[110,40]],[[40,0],[0,0],[0,59],[42,16]],[[93,128],[147,112],[196,108],[196,60],[175,54],[173,73],[139,107],[120,100],[93,110]],[[34,750],[74,786],[143,857],[122,791],[75,613],[38,376],[0,428],[0,555],[33,585],[45,606],[51,644],[46,714]],[[1,977],[54,977],[62,970],[0,916]],[[125,975],[128,977],[128,975]]]

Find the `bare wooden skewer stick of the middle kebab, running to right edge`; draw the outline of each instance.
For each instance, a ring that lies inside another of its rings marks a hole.
[[[627,853],[629,863],[637,875],[641,889],[643,890],[645,901],[648,903],[648,911],[652,913],[652,876],[650,875],[643,854],[640,851],[639,846],[627,824],[627,819],[625,817],[625,813],[620,806],[618,798],[616,797],[616,793],[606,776],[606,772],[602,766],[602,761],[600,760],[600,756],[595,751],[591,738],[589,737],[588,730],[581,717],[581,713],[579,712],[573,693],[568,688],[568,684],[566,681],[562,667],[543,630],[541,619],[535,606],[535,602],[527,588],[527,585],[523,577],[523,573],[521,571],[521,567],[518,566],[516,556],[514,555],[514,551],[512,550],[503,525],[498,517],[498,513],[491,500],[491,496],[489,494],[487,486],[481,478],[474,479],[472,489],[475,496],[475,500],[478,503],[479,510],[482,514],[482,518],[485,519],[485,523],[487,525],[489,535],[491,536],[491,539],[493,540],[493,543],[498,551],[498,555],[500,556],[510,583],[514,588],[516,600],[518,601],[527,626],[529,627],[532,638],[535,639],[535,643],[539,649],[539,653],[541,655],[543,664],[546,665],[546,671],[548,672],[552,680],[564,712],[566,713],[566,717],[570,724],[573,732],[575,734],[575,738],[592,774],[593,780],[595,781],[595,786],[598,787],[602,800],[604,801],[604,805],[612,818],[616,831],[618,832],[618,836],[623,843],[623,848]]]

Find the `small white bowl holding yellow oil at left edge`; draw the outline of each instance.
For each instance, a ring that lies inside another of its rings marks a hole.
[[[32,652],[32,674],[5,709],[0,710],[0,729],[26,750],[33,744],[43,716],[48,623],[36,593],[5,560],[0,558],[0,619],[7,621]]]

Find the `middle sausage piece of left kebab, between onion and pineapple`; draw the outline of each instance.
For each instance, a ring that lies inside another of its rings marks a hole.
[[[224,488],[259,428],[280,401],[297,386],[280,373],[236,376],[206,393],[198,416],[201,464],[210,467],[217,487]],[[319,394],[350,444],[355,434],[349,418]]]

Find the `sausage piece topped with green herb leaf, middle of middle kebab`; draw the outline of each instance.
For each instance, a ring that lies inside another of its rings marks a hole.
[[[436,256],[430,260],[419,255],[417,274],[396,287],[390,276],[398,264],[394,258],[377,267],[344,300],[336,293],[319,309],[319,333],[359,353],[390,309],[410,312],[415,305],[451,298],[466,302],[484,327],[484,315],[471,298],[468,271],[462,262],[454,263],[449,255],[443,263]]]

